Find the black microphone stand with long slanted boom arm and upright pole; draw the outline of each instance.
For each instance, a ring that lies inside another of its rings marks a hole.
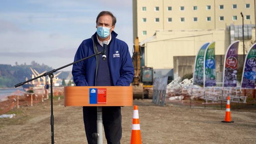
[[[21,83],[18,83],[18,84],[16,84],[16,85],[14,85],[14,87],[18,87],[18,86],[21,86],[21,85],[23,85],[23,84],[25,84],[25,83],[28,83],[28,82],[30,82],[30,81],[33,81],[33,80],[35,80],[35,79],[41,78],[41,77],[43,77],[43,76],[45,76],[45,77],[46,77],[47,75],[49,76],[49,78],[50,78],[50,83],[51,83],[51,143],[52,143],[52,144],[54,144],[54,133],[53,133],[53,125],[54,125],[53,119],[54,119],[54,118],[53,118],[53,98],[52,98],[52,79],[54,78],[53,73],[55,73],[56,71],[58,71],[58,70],[60,70],[60,69],[63,69],[63,68],[65,68],[65,67],[68,67],[68,66],[70,66],[70,65],[73,65],[73,64],[76,64],[76,63],[78,63],[78,62],[81,62],[81,61],[83,61],[83,60],[92,58],[92,57],[94,57],[94,56],[96,56],[96,55],[99,55],[99,54],[101,54],[101,53],[103,53],[103,52],[105,53],[104,50],[101,51],[101,52],[97,52],[97,53],[95,53],[95,54],[93,54],[93,55],[91,55],[91,56],[89,56],[89,57],[86,57],[86,58],[83,58],[83,59],[78,60],[78,61],[76,61],[76,62],[67,64],[67,65],[62,66],[62,67],[60,67],[60,68],[53,69],[53,70],[51,70],[51,71],[49,71],[49,72],[47,72],[47,73],[44,73],[44,74],[42,74],[42,75],[40,75],[40,76],[37,76],[37,77],[35,77],[35,78],[33,78],[33,79],[30,79],[30,80],[27,80],[27,81],[25,81],[25,82],[21,82]]]

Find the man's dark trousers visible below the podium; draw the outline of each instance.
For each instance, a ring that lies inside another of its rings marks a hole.
[[[108,144],[120,144],[122,138],[121,107],[102,107],[102,121]],[[97,107],[83,107],[83,121],[88,144],[97,144]]]

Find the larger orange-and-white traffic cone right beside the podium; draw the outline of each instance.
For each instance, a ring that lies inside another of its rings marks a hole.
[[[141,129],[140,129],[138,106],[134,106],[133,108],[131,144],[141,144]]]

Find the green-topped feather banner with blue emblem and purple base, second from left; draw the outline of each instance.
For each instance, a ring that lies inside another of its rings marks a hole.
[[[215,42],[212,42],[205,50],[204,56],[204,87],[215,86]]]

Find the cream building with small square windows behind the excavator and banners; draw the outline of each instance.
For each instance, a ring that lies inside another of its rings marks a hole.
[[[133,0],[133,38],[139,37],[142,64],[156,76],[182,77],[193,72],[198,49],[215,41],[221,73],[223,63],[217,62],[231,42],[239,39],[243,54],[241,12],[246,52],[255,41],[255,0]]]

